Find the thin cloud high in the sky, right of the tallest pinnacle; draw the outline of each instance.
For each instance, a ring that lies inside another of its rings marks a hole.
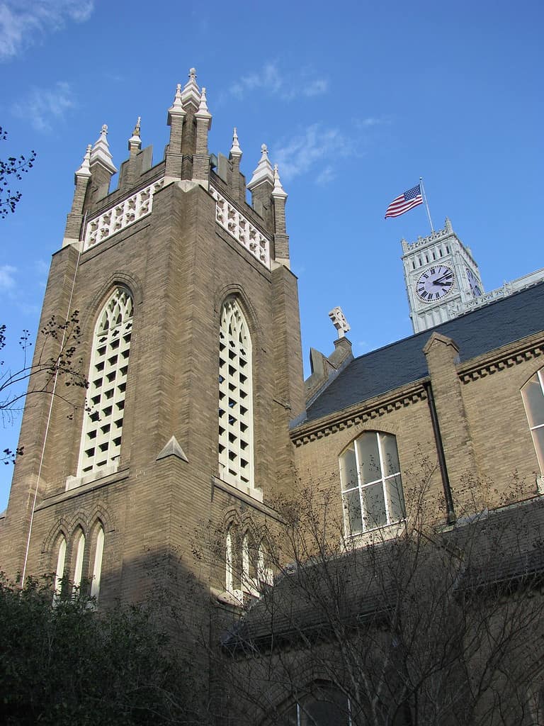
[[[268,62],[260,70],[242,76],[229,90],[237,99],[243,99],[254,91],[264,91],[268,95],[289,101],[301,96],[321,96],[328,89],[327,78],[313,78],[308,70],[284,73],[276,62]]]

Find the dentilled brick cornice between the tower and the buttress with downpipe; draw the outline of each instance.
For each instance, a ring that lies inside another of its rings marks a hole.
[[[295,446],[308,444],[309,441],[322,439],[331,433],[343,431],[345,428],[366,423],[384,414],[405,408],[411,404],[426,399],[423,383],[427,378],[421,378],[408,386],[395,388],[394,391],[387,391],[381,396],[374,396],[367,401],[350,406],[342,411],[334,412],[329,416],[302,423],[290,432],[291,440]]]

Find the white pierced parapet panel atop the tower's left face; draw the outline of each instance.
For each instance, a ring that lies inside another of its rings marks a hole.
[[[88,248],[98,245],[99,242],[104,242],[108,237],[120,232],[121,229],[125,229],[133,222],[150,214],[153,195],[162,189],[164,183],[164,179],[154,181],[153,184],[149,184],[149,187],[141,189],[115,207],[108,209],[95,219],[91,219],[85,230],[83,249],[88,250]]]

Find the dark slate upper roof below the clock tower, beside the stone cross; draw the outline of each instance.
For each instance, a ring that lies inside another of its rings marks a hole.
[[[428,375],[423,348],[436,331],[451,338],[461,362],[544,329],[544,282],[461,317],[355,358],[308,407],[316,420]]]

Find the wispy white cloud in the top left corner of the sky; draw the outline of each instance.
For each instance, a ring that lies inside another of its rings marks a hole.
[[[9,60],[66,23],[84,23],[94,0],[4,0],[0,2],[0,60]]]

